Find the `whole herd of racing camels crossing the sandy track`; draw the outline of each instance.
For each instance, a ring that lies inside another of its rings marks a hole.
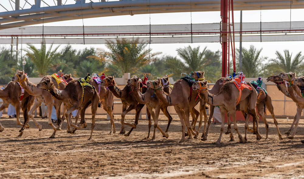
[[[110,116],[110,134],[116,133],[114,115],[112,112],[114,104],[113,98],[116,96],[121,99],[123,104],[120,134],[124,134],[124,136],[130,136],[133,129],[136,129],[140,111],[144,105],[146,105],[149,131],[145,139],[150,139],[150,129],[152,126],[151,117],[154,122],[152,140],[155,140],[156,129],[163,134],[163,137],[168,138],[168,130],[172,121],[172,117],[168,112],[168,106],[174,106],[182,127],[180,142],[185,141],[185,136],[188,136],[189,139],[193,139],[193,137],[198,138],[199,130],[202,126],[202,117],[204,117],[204,128],[201,137],[202,140],[205,141],[207,140],[214,108],[215,106],[219,106],[222,119],[225,119],[227,115],[228,127],[225,134],[230,134],[230,141],[234,141],[231,131],[230,116],[233,119],[233,128],[236,130],[240,142],[247,142],[248,131],[253,132],[257,136],[257,140],[260,140],[262,137],[258,128],[259,115],[265,123],[265,140],[268,140],[268,122],[265,118],[266,108],[274,119],[279,139],[283,139],[278,129],[278,122],[275,119],[270,96],[262,88],[254,88],[251,83],[247,83],[248,88],[241,90],[235,85],[235,80],[222,77],[216,81],[212,89],[209,89],[207,86],[208,82],[205,81],[204,78],[204,71],[197,71],[176,81],[174,86],[170,84],[168,76],[153,81],[147,81],[147,83],[139,77],[132,77],[128,79],[126,86],[121,89],[117,86],[115,79],[112,76],[107,76],[103,79],[92,78],[87,81],[87,86],[83,86],[79,80],[74,80],[71,74],[59,75],[60,77],[62,76],[60,81],[59,79],[55,79],[53,75],[44,76],[40,83],[35,85],[29,81],[24,71],[17,70],[7,87],[3,90],[0,89],[0,98],[2,98],[4,102],[0,107],[0,111],[7,108],[9,104],[12,104],[16,108],[17,124],[22,126],[19,130],[19,136],[22,136],[24,128],[29,128],[29,124],[27,124],[29,118],[33,119],[39,131],[43,129],[42,125],[33,117],[33,111],[38,108],[42,102],[45,103],[48,108],[48,124],[54,129],[54,133],[50,138],[54,138],[56,131],[61,130],[64,119],[67,119],[68,133],[75,133],[77,129],[86,128],[85,109],[89,106],[91,106],[92,112],[92,129],[89,139],[92,139],[96,110],[101,106]],[[289,72],[268,77],[267,81],[274,82],[279,91],[288,98],[291,98],[297,105],[297,113],[295,114],[293,123],[290,129],[285,132],[285,134],[289,135],[295,125],[292,134],[288,136],[289,139],[293,139],[299,124],[301,112],[304,109],[304,77],[301,76],[296,78],[295,73]],[[22,88],[24,89],[23,96]],[[64,105],[64,115],[61,118],[60,106],[62,103]],[[199,111],[195,109],[195,106],[198,103],[200,106]],[[208,105],[206,104],[210,105],[209,118],[206,114],[206,108],[208,108]],[[51,121],[52,106],[54,106],[56,110],[56,126]],[[24,115],[23,124],[19,120],[20,107]],[[78,115],[76,116],[75,123],[73,123],[71,120],[71,112],[76,109],[78,109]],[[125,115],[133,109],[136,111],[134,123],[125,122]],[[158,125],[160,110],[168,118],[168,125],[165,131]],[[246,119],[244,137],[237,127],[236,111],[240,111]],[[190,114],[192,116],[192,123],[190,123],[189,120]],[[78,124],[79,115],[81,121]],[[252,129],[249,128],[250,115],[253,117]],[[199,126],[196,129],[195,126],[199,117]],[[221,142],[224,124],[225,123],[222,122],[219,138],[215,143]],[[125,131],[125,125],[131,127],[128,133]],[[0,123],[0,132],[3,130],[4,128]],[[304,143],[304,139],[301,142]]]

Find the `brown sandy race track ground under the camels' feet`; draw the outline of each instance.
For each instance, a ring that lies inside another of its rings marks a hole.
[[[284,134],[290,126],[286,119],[279,119],[283,140],[271,119],[269,140],[264,141],[265,128],[260,123],[263,137],[249,133],[248,143],[227,142],[213,144],[219,136],[220,124],[210,126],[207,141],[181,139],[181,126],[177,116],[169,129],[169,138],[164,139],[157,130],[156,140],[143,140],[147,136],[147,120],[140,120],[130,137],[119,134],[120,116],[115,116],[117,133],[109,135],[110,122],[106,116],[97,116],[93,140],[87,140],[91,132],[88,127],[75,134],[63,130],[53,133],[46,119],[37,119],[43,125],[38,131],[32,121],[22,137],[16,119],[4,115],[1,123],[5,130],[0,133],[0,178],[303,178],[304,137],[303,121],[299,124],[294,139]],[[143,116],[144,117],[144,116]],[[133,115],[127,116],[133,122]],[[165,130],[167,119],[161,116],[160,127]],[[244,122],[237,122],[244,135]],[[252,123],[250,123],[252,126]],[[130,129],[126,126],[126,131]],[[201,129],[202,131],[202,129]],[[200,131],[200,135],[201,135]],[[153,125],[152,133],[153,134]],[[233,130],[235,139],[237,134]],[[151,136],[152,137],[152,136]]]

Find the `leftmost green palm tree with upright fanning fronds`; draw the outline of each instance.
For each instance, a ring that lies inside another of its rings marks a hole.
[[[39,77],[43,77],[46,72],[54,65],[58,64],[59,53],[56,53],[56,50],[59,46],[55,47],[52,51],[53,44],[50,46],[49,50],[46,49],[45,44],[41,44],[41,48],[37,49],[34,45],[28,44],[28,49],[26,55],[32,60],[35,64]]]

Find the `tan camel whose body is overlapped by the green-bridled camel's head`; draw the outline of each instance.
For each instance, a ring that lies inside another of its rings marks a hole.
[[[150,83],[150,82],[148,82],[148,83]],[[161,103],[161,101],[154,94],[153,89],[147,89],[147,91],[145,91],[145,93],[143,93],[143,94],[140,93],[140,91],[139,91],[140,90],[140,78],[139,77],[133,77],[133,78],[128,79],[127,84],[131,85],[135,89],[135,91],[133,91],[133,94],[134,94],[136,101],[141,104],[145,104],[153,118],[154,132],[153,132],[152,140],[155,140],[156,128],[159,129],[166,138],[168,138],[168,133],[164,133],[161,130],[161,128],[158,126],[158,116],[159,116],[160,110],[162,110],[164,112],[164,114],[168,117],[168,119],[170,121],[171,116],[168,113],[167,106],[164,105],[163,103]],[[153,111],[153,108],[155,109],[155,113]],[[172,117],[171,117],[171,119],[172,119]],[[169,124],[168,124],[168,126],[169,126]],[[151,121],[149,121],[149,133],[148,133],[148,136],[146,139],[150,139],[150,127],[151,127]]]

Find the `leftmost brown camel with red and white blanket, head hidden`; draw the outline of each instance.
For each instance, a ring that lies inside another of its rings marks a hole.
[[[29,95],[29,93],[27,93],[26,91],[24,91],[24,94],[22,96],[22,90],[21,90],[20,85],[16,82],[11,81],[11,82],[9,82],[9,84],[7,84],[5,89],[3,89],[3,90],[0,89],[0,98],[3,100],[3,104],[0,107],[0,111],[2,111],[5,108],[8,108],[9,104],[13,105],[16,109],[17,124],[22,126],[21,129],[29,128],[29,124],[27,124],[29,116],[27,113],[34,103],[34,100],[35,100],[34,96]],[[21,100],[21,105],[20,105],[20,100]],[[19,120],[20,106],[21,106],[23,116],[24,116],[23,124]],[[42,130],[41,125],[38,126],[38,128],[39,128],[39,131]],[[0,123],[0,132],[2,132],[3,130],[4,130],[4,128]],[[22,133],[20,133],[20,134],[22,135]]]

